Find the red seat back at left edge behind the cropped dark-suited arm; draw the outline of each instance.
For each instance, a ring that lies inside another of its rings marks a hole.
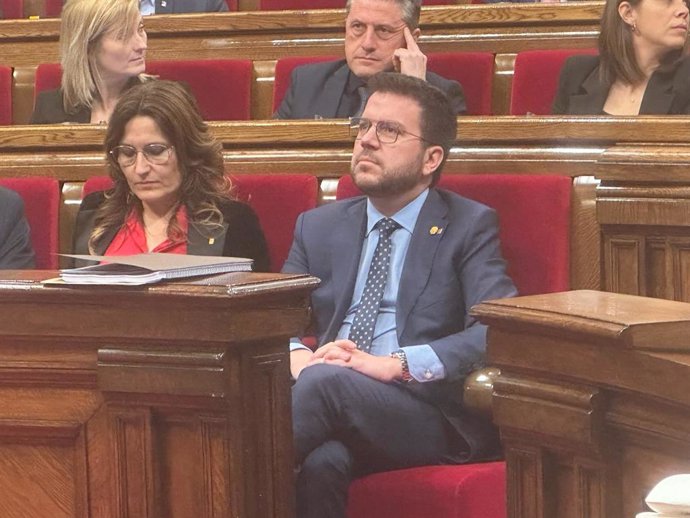
[[[24,200],[36,268],[55,270],[58,267],[59,182],[54,178],[0,178],[0,186],[17,192]]]

